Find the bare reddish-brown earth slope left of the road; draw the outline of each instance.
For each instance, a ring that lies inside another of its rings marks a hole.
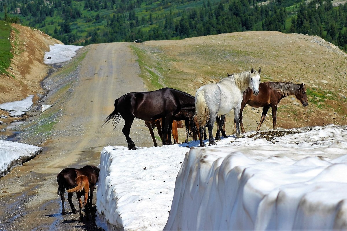
[[[27,95],[43,93],[40,82],[47,76],[49,67],[43,63],[49,46],[62,44],[40,30],[18,24],[11,25],[13,59],[7,70],[10,75],[0,77],[0,103],[21,100]]]

